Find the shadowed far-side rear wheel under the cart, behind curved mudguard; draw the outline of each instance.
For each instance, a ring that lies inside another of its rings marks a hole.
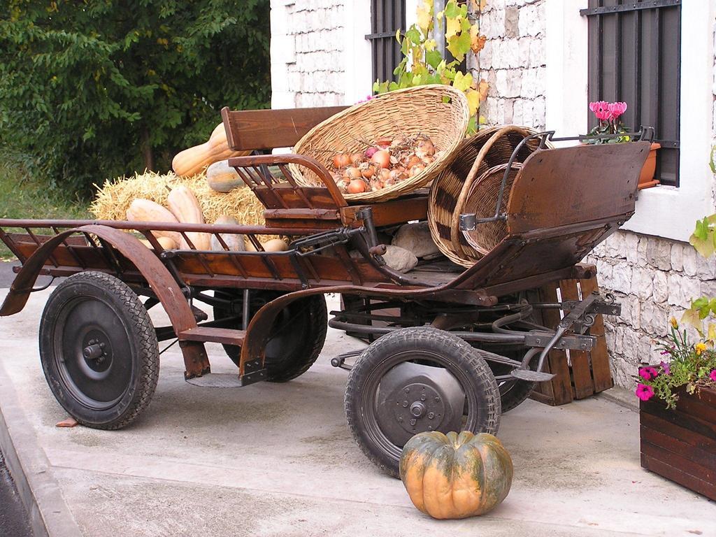
[[[230,296],[226,291],[216,292]],[[259,304],[261,301],[266,304],[280,296],[271,291],[251,291],[251,294],[254,299],[257,297],[260,299]],[[240,302],[241,295],[234,294],[233,299]],[[254,306],[254,304],[252,301],[249,311],[251,316],[258,311],[258,306]],[[214,308],[215,319],[221,319],[224,316],[227,316],[226,311],[218,307]],[[241,319],[239,319],[239,325],[236,328],[242,327]],[[271,337],[266,344],[266,380],[288,382],[308,371],[323,350],[327,331],[328,309],[326,309],[326,299],[322,294],[306,296],[306,298],[296,300],[286,306],[276,319]],[[280,339],[281,332],[288,336],[288,342]],[[241,349],[234,345],[224,345],[223,348],[231,361],[238,365],[241,361]]]

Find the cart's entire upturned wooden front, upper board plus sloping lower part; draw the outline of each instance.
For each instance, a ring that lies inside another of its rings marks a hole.
[[[512,185],[508,235],[460,276],[458,289],[502,296],[571,269],[632,216],[648,154],[649,142],[533,153]]]

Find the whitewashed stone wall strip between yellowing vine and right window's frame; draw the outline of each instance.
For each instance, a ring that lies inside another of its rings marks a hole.
[[[488,0],[485,48],[473,66],[490,84],[480,115],[490,125],[545,126],[546,0]]]

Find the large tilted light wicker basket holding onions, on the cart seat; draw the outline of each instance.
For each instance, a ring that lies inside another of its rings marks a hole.
[[[363,151],[367,142],[404,134],[430,136],[442,155],[425,170],[382,190],[344,194],[350,201],[390,200],[424,187],[448,165],[465,138],[469,113],[465,95],[453,87],[432,84],[399,89],[319,123],[296,143],[294,153],[312,157],[328,168],[336,153]],[[299,185],[321,184],[319,178],[305,168],[292,164],[290,169]]]

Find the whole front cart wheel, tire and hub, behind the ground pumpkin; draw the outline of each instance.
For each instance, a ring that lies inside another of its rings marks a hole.
[[[398,476],[403,445],[418,432],[491,432],[500,422],[500,392],[477,349],[421,326],[384,335],[348,375],[346,417],[359,447]]]

